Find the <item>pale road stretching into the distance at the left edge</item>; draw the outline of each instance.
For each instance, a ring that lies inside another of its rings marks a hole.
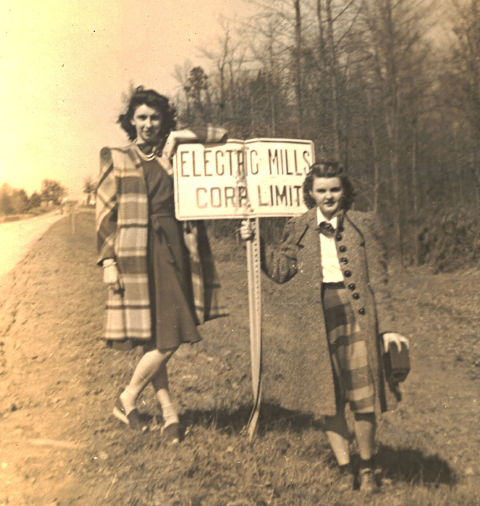
[[[28,253],[33,243],[65,215],[53,213],[26,220],[0,223],[0,278]]]

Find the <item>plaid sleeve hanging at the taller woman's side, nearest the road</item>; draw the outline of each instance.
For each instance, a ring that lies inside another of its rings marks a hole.
[[[100,177],[97,184],[96,231],[97,264],[106,258],[115,258],[115,237],[117,233],[117,178],[115,176],[110,148],[100,151]]]

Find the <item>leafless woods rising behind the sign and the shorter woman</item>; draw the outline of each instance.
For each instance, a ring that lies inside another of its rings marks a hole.
[[[179,120],[311,139],[404,265],[476,261],[479,2],[256,0],[254,19],[202,48],[207,64],[176,68]]]

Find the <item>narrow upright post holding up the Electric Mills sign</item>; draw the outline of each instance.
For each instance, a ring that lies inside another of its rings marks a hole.
[[[260,220],[253,222],[253,237],[247,241],[248,308],[250,316],[250,354],[252,360],[253,410],[248,436],[253,440],[262,399],[262,287],[260,262]]]

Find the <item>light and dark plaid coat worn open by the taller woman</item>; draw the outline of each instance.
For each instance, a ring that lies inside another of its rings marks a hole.
[[[172,132],[159,162],[172,174],[171,159],[181,142],[221,142],[223,129],[205,127]],[[99,265],[116,260],[122,291],[108,291],[105,339],[150,340],[151,312],[147,270],[148,196],[141,160],[133,145],[103,148],[97,185],[96,229]],[[226,314],[220,283],[202,222],[184,223],[197,318],[203,323]]]

